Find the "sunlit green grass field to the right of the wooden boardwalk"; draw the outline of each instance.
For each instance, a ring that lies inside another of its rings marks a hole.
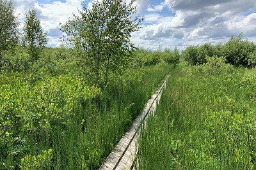
[[[205,67],[172,71],[143,126],[139,169],[256,169],[256,69]]]

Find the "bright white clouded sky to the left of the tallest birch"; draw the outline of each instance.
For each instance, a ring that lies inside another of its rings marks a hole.
[[[53,3],[40,4],[36,0],[14,0],[15,14],[19,18],[19,30],[24,27],[25,13],[29,8],[35,8],[41,20],[42,27],[48,35],[48,46],[60,45],[59,38],[62,36],[60,23],[64,24],[72,13],[78,14],[81,9],[81,0],[66,0],[65,2],[54,1]]]

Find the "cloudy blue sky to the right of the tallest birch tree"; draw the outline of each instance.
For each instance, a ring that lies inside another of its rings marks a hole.
[[[163,8],[175,15],[166,17],[166,13],[157,13]],[[151,13],[145,15],[146,24],[133,41],[140,45],[144,42],[145,46],[151,44],[151,49],[159,45],[182,49],[205,42],[223,43],[240,32],[255,41],[255,9],[255,0],[165,0],[147,8]]]

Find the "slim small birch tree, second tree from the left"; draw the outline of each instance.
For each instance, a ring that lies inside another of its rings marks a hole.
[[[28,48],[28,53],[33,62],[38,60],[47,43],[47,34],[43,31],[34,8],[29,9],[26,13],[22,43]]]

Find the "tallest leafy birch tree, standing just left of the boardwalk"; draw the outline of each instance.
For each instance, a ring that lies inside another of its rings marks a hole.
[[[66,38],[75,46],[79,65],[97,87],[106,87],[109,73],[120,73],[134,48],[131,32],[138,30],[138,17],[132,19],[134,1],[93,1],[83,6],[81,17],[74,16],[65,25]]]

